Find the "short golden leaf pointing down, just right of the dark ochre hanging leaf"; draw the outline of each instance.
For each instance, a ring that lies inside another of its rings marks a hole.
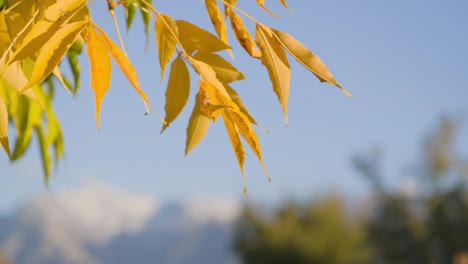
[[[198,145],[205,137],[208,128],[210,127],[210,119],[200,108],[200,100],[198,95],[195,97],[195,106],[193,107],[192,115],[187,126],[187,141],[185,143],[185,155]]]

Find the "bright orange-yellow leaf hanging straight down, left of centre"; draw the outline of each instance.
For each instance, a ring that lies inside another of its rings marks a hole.
[[[112,65],[106,41],[92,26],[86,34],[86,53],[90,64],[91,88],[94,91],[96,127],[99,128],[101,103],[109,89]]]

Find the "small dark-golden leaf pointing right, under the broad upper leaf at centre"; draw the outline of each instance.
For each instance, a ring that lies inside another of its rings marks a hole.
[[[231,63],[218,54],[197,52],[193,58],[210,65],[216,72],[216,77],[223,83],[245,79],[245,75],[242,72],[239,72]]]

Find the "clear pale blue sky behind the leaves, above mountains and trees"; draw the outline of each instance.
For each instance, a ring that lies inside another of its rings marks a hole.
[[[160,11],[211,30],[201,0],[157,2]],[[384,151],[384,172],[391,184],[398,185],[408,177],[403,168],[417,162],[422,137],[442,114],[466,118],[466,1],[289,1],[293,15],[276,1],[267,1],[267,5],[280,20],[253,4],[240,7],[309,47],[354,97],[347,98],[333,86],[321,84],[291,59],[286,127],[266,70],[259,61],[245,56],[230,35],[234,64],[247,75],[235,88],[270,131],[258,133],[273,181],[267,182],[255,155],[249,152],[245,164],[249,200],[274,203],[330,190],[361,195],[367,185],[352,169],[350,159],[373,146]],[[104,7],[104,1],[96,1],[92,15],[113,32],[112,19],[103,12]],[[164,114],[165,83],[159,81],[154,33],[145,52],[138,19],[124,34],[124,41],[143,89]],[[243,197],[240,172],[222,124],[212,125],[205,140],[184,157],[192,105],[160,135],[160,121],[155,115],[143,115],[141,100],[116,66],[102,106],[102,130],[97,131],[87,58],[82,56],[81,62],[82,87],[77,97],[60,91],[55,104],[65,133],[65,160],[58,164],[47,189],[35,142],[16,164],[10,165],[6,156],[1,156],[0,212],[34,195],[95,179],[161,200],[215,194]],[[197,77],[192,74],[191,79],[193,97]],[[465,122],[457,145],[465,157],[467,131]]]

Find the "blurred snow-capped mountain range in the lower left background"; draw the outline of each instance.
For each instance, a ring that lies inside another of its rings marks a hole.
[[[0,218],[0,249],[17,264],[237,263],[239,209],[219,197],[160,203],[87,184]]]

